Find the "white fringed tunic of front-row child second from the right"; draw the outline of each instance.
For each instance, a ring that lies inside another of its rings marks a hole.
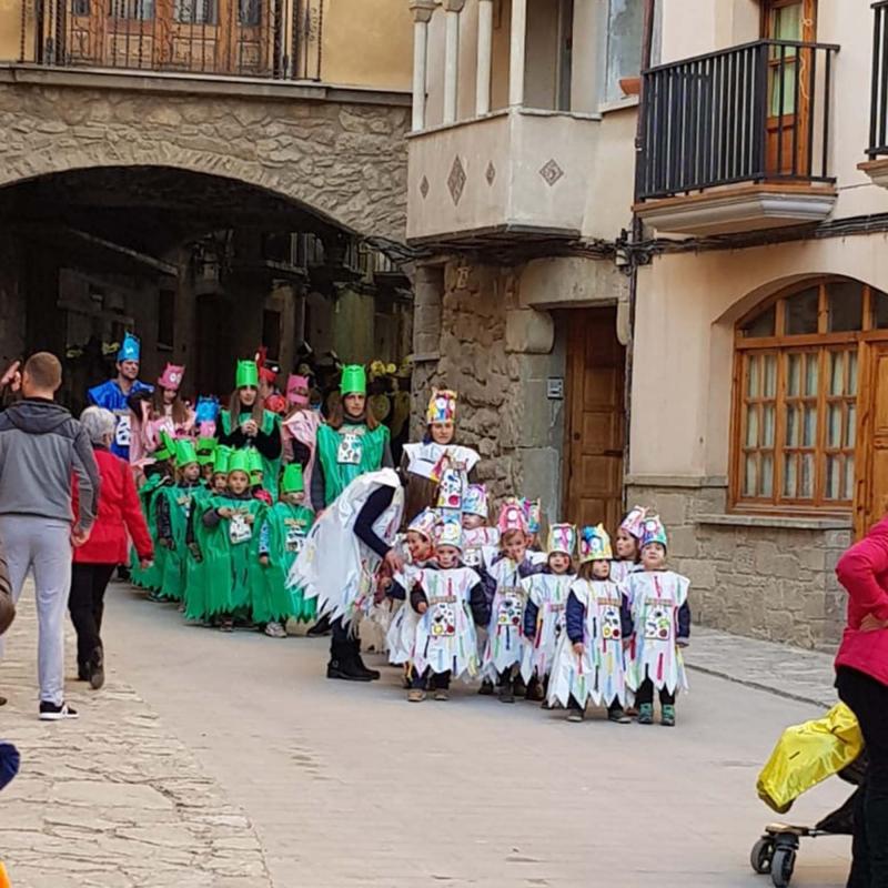
[[[567,706],[571,696],[581,706],[592,699],[596,706],[609,706],[614,698],[626,705],[626,655],[619,610],[623,592],[607,579],[577,579],[571,587],[585,610],[583,656],[565,632],[548,684],[549,704]]]

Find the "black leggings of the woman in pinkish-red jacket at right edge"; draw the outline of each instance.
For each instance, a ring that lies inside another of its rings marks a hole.
[[[888,888],[888,685],[840,666],[836,688],[857,716],[869,754],[857,794],[848,888]]]

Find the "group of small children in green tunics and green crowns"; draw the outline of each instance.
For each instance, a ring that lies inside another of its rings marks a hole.
[[[255,362],[238,365],[238,390],[255,389]],[[218,402],[200,398],[195,421],[212,433]],[[286,620],[312,622],[313,601],[287,587],[287,574],[314,521],[304,505],[300,463],[266,478],[270,460],[254,446],[222,446],[211,434],[195,441],[159,433],[139,490],[155,558],[133,558],[134,585],[154,601],[179,602],[185,618],[230,632],[235,622],[284,637]],[[272,464],[273,465],[273,464]]]

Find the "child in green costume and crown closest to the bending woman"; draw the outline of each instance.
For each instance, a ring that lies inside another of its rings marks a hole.
[[[314,522],[314,513],[303,505],[305,490],[302,466],[291,463],[281,480],[281,501],[265,513],[259,536],[259,562],[265,576],[265,635],[286,637],[289,617],[311,623],[316,615],[316,601],[305,601],[302,589],[286,588],[286,577]],[[259,617],[256,617],[259,619]]]

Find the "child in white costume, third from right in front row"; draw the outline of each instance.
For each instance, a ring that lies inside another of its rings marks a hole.
[[[545,688],[555,650],[564,632],[564,608],[575,579],[572,558],[576,552],[576,527],[553,524],[548,532],[548,561],[541,573],[522,579],[527,596],[524,606],[526,639],[521,676],[527,699],[545,703]]]

